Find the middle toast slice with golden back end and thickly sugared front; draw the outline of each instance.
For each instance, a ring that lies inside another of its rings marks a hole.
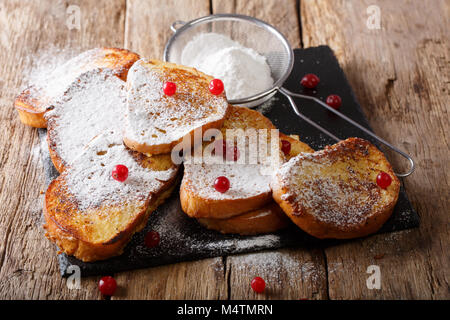
[[[223,140],[227,141],[227,144],[229,142],[227,139],[233,141],[233,137],[229,136],[229,130],[239,129],[244,130],[242,134],[245,134],[249,139],[254,137],[252,130],[254,132],[261,132],[258,131],[259,129],[269,131],[266,144],[270,146],[272,145],[270,131],[276,128],[269,119],[257,111],[245,107],[230,106],[229,114],[221,128]],[[284,135],[281,137],[291,139],[292,144],[298,142]],[[275,142],[277,146],[280,143],[279,138],[277,135]],[[246,140],[244,146],[246,153],[250,144],[249,139]],[[254,141],[256,141],[256,138]],[[251,156],[242,158],[244,161],[239,158],[237,161],[223,162],[221,156],[206,152],[209,145],[205,143],[203,146],[203,162],[198,163],[195,154],[191,158],[185,159],[184,162],[180,200],[181,207],[187,215],[193,218],[226,219],[258,210],[273,201],[269,184],[273,172],[272,167],[276,163],[271,162],[272,160],[284,161],[284,156],[260,152],[257,161],[254,162],[248,161]],[[298,142],[298,147],[295,148],[303,148],[305,152],[313,151],[301,142]],[[240,153],[242,154],[243,151],[241,150]],[[218,161],[215,161],[216,159]],[[230,181],[230,188],[225,193],[220,193],[214,189],[214,181],[219,176],[225,176]]]

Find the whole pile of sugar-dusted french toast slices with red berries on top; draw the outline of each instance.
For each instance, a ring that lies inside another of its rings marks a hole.
[[[196,69],[97,48],[46,77],[15,107],[24,124],[47,128],[60,173],[45,194],[46,235],[83,261],[121,254],[180,179],[182,210],[221,233],[293,223],[317,238],[361,237],[397,202],[399,181],[370,142],[315,152],[229,105],[221,82]]]

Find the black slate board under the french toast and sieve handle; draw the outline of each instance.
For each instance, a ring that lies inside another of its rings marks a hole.
[[[338,94],[343,99],[341,112],[370,129],[352,89],[329,47],[296,49],[294,54],[295,65],[291,76],[285,83],[287,89],[293,92],[302,91],[303,93],[312,94],[320,99],[325,99],[332,93]],[[300,79],[306,73],[315,73],[320,77],[321,82],[316,91],[303,91],[299,85]],[[332,139],[324,136],[315,128],[299,119],[292,111],[286,98],[281,94],[277,94],[272,99],[273,101],[259,109],[273,121],[280,131],[287,134],[300,135],[302,141],[308,143],[316,150],[323,148],[327,144],[334,143]],[[302,113],[317,121],[338,137],[345,139],[357,136],[374,142],[371,137],[349,126],[339,117],[331,114],[314,102],[302,99],[296,99],[296,102]],[[45,141],[43,140],[46,136],[46,130],[40,129],[39,134],[43,142],[41,144],[43,146],[41,154],[43,155],[42,161],[48,184],[57,177],[58,173],[51,163]],[[418,226],[419,216],[412,208],[402,188],[392,217],[379,233]],[[161,235],[161,242],[157,248],[148,249],[143,245],[144,236],[150,230],[157,230]],[[222,235],[209,231],[182,213],[179,194],[174,192],[165,204],[152,213],[146,228],[134,235],[121,256],[106,261],[84,263],[73,257],[61,254],[59,255],[59,263],[62,276],[68,276],[72,273],[72,271],[68,271],[70,265],[79,266],[82,276],[91,276],[208,257],[277,249],[286,246],[311,247],[336,245],[339,243],[342,243],[342,241],[314,239],[294,226],[276,234],[251,237]]]

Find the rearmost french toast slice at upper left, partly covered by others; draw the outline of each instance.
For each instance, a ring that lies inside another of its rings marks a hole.
[[[108,68],[125,81],[128,69],[138,59],[138,54],[118,48],[95,48],[81,53],[48,74],[42,83],[32,84],[16,97],[14,106],[20,120],[32,127],[45,128],[44,113],[80,74]]]

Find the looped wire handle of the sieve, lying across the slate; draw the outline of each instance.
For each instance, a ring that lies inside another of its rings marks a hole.
[[[370,130],[364,128],[363,126],[361,126],[359,123],[353,121],[352,119],[350,119],[349,117],[345,116],[344,114],[340,113],[339,111],[333,109],[332,107],[330,107],[329,105],[327,105],[326,103],[324,103],[322,100],[317,99],[315,97],[311,97],[308,95],[304,95],[304,94],[299,94],[299,93],[294,93],[291,92],[285,88],[279,88],[279,91],[289,100],[292,109],[294,109],[294,112],[297,114],[297,116],[299,116],[300,118],[302,118],[303,120],[305,120],[307,123],[309,123],[310,125],[312,125],[313,127],[315,127],[316,129],[319,129],[320,131],[322,131],[323,133],[325,133],[327,136],[331,137],[332,139],[334,139],[335,141],[340,141],[341,139],[339,139],[338,137],[336,137],[334,134],[332,134],[331,132],[329,132],[327,129],[323,128],[322,126],[320,126],[319,124],[315,123],[314,121],[312,121],[311,119],[305,117],[299,110],[297,105],[295,104],[295,101],[292,97],[297,97],[297,98],[303,98],[303,99],[308,99],[308,100],[313,100],[314,102],[317,102],[318,104],[320,104],[322,107],[326,108],[328,111],[333,112],[334,114],[336,114],[337,116],[341,117],[342,119],[344,119],[345,121],[351,123],[352,125],[354,125],[355,127],[357,127],[358,129],[360,129],[361,131],[364,131],[366,134],[368,134],[369,136],[371,136],[372,138],[376,139],[377,141],[381,142],[382,144],[384,144],[385,146],[387,146],[389,149],[393,150],[394,152],[400,154],[402,157],[406,158],[409,161],[410,164],[410,168],[407,172],[405,173],[395,173],[395,175],[397,177],[401,177],[401,178],[405,178],[409,175],[411,175],[411,173],[414,172],[415,170],[415,163],[414,160],[411,158],[410,155],[408,155],[407,153],[403,152],[402,150],[398,149],[397,147],[393,146],[392,144],[390,144],[389,142],[387,142],[386,140],[380,138],[379,136],[377,136],[376,134],[374,134],[373,132],[371,132]]]

